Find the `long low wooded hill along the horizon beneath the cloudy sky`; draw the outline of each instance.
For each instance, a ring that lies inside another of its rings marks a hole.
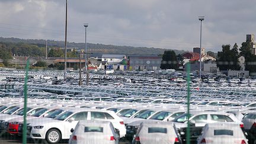
[[[18,39],[18,38],[4,38],[0,37],[0,42],[3,43],[27,43],[34,44],[38,47],[45,47],[45,40],[37,39]],[[64,47],[65,41],[47,40],[47,46],[49,47]],[[85,49],[85,43],[73,43],[68,42],[67,47],[76,49]],[[133,46],[114,46],[106,44],[93,44],[87,43],[88,52],[94,53],[94,55],[101,56],[104,54],[126,54],[126,55],[162,55],[167,49],[148,48],[148,47],[133,47]],[[184,53],[184,50],[174,50],[176,55]]]

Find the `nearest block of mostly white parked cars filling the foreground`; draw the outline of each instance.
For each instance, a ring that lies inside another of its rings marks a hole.
[[[57,143],[61,139],[70,139],[73,143],[96,134],[101,138],[105,137],[104,140],[110,143],[117,143],[119,139],[132,143],[148,143],[147,140],[153,143],[185,143],[188,135],[191,143],[215,140],[217,143],[217,140],[224,139],[223,136],[233,139],[234,143],[254,143],[256,136],[255,107],[191,105],[188,114],[184,104],[32,98],[28,99],[27,111],[24,113],[24,107],[20,105],[23,103],[22,98],[1,98],[0,102],[2,133],[21,135],[23,115],[26,114],[27,136],[32,139],[46,139],[49,143]],[[113,126],[100,121],[108,121]],[[94,125],[96,123],[98,127]],[[105,126],[108,128],[103,128]],[[186,131],[188,126],[190,133]],[[84,133],[81,129],[84,129]],[[102,129],[112,134],[104,134]]]

